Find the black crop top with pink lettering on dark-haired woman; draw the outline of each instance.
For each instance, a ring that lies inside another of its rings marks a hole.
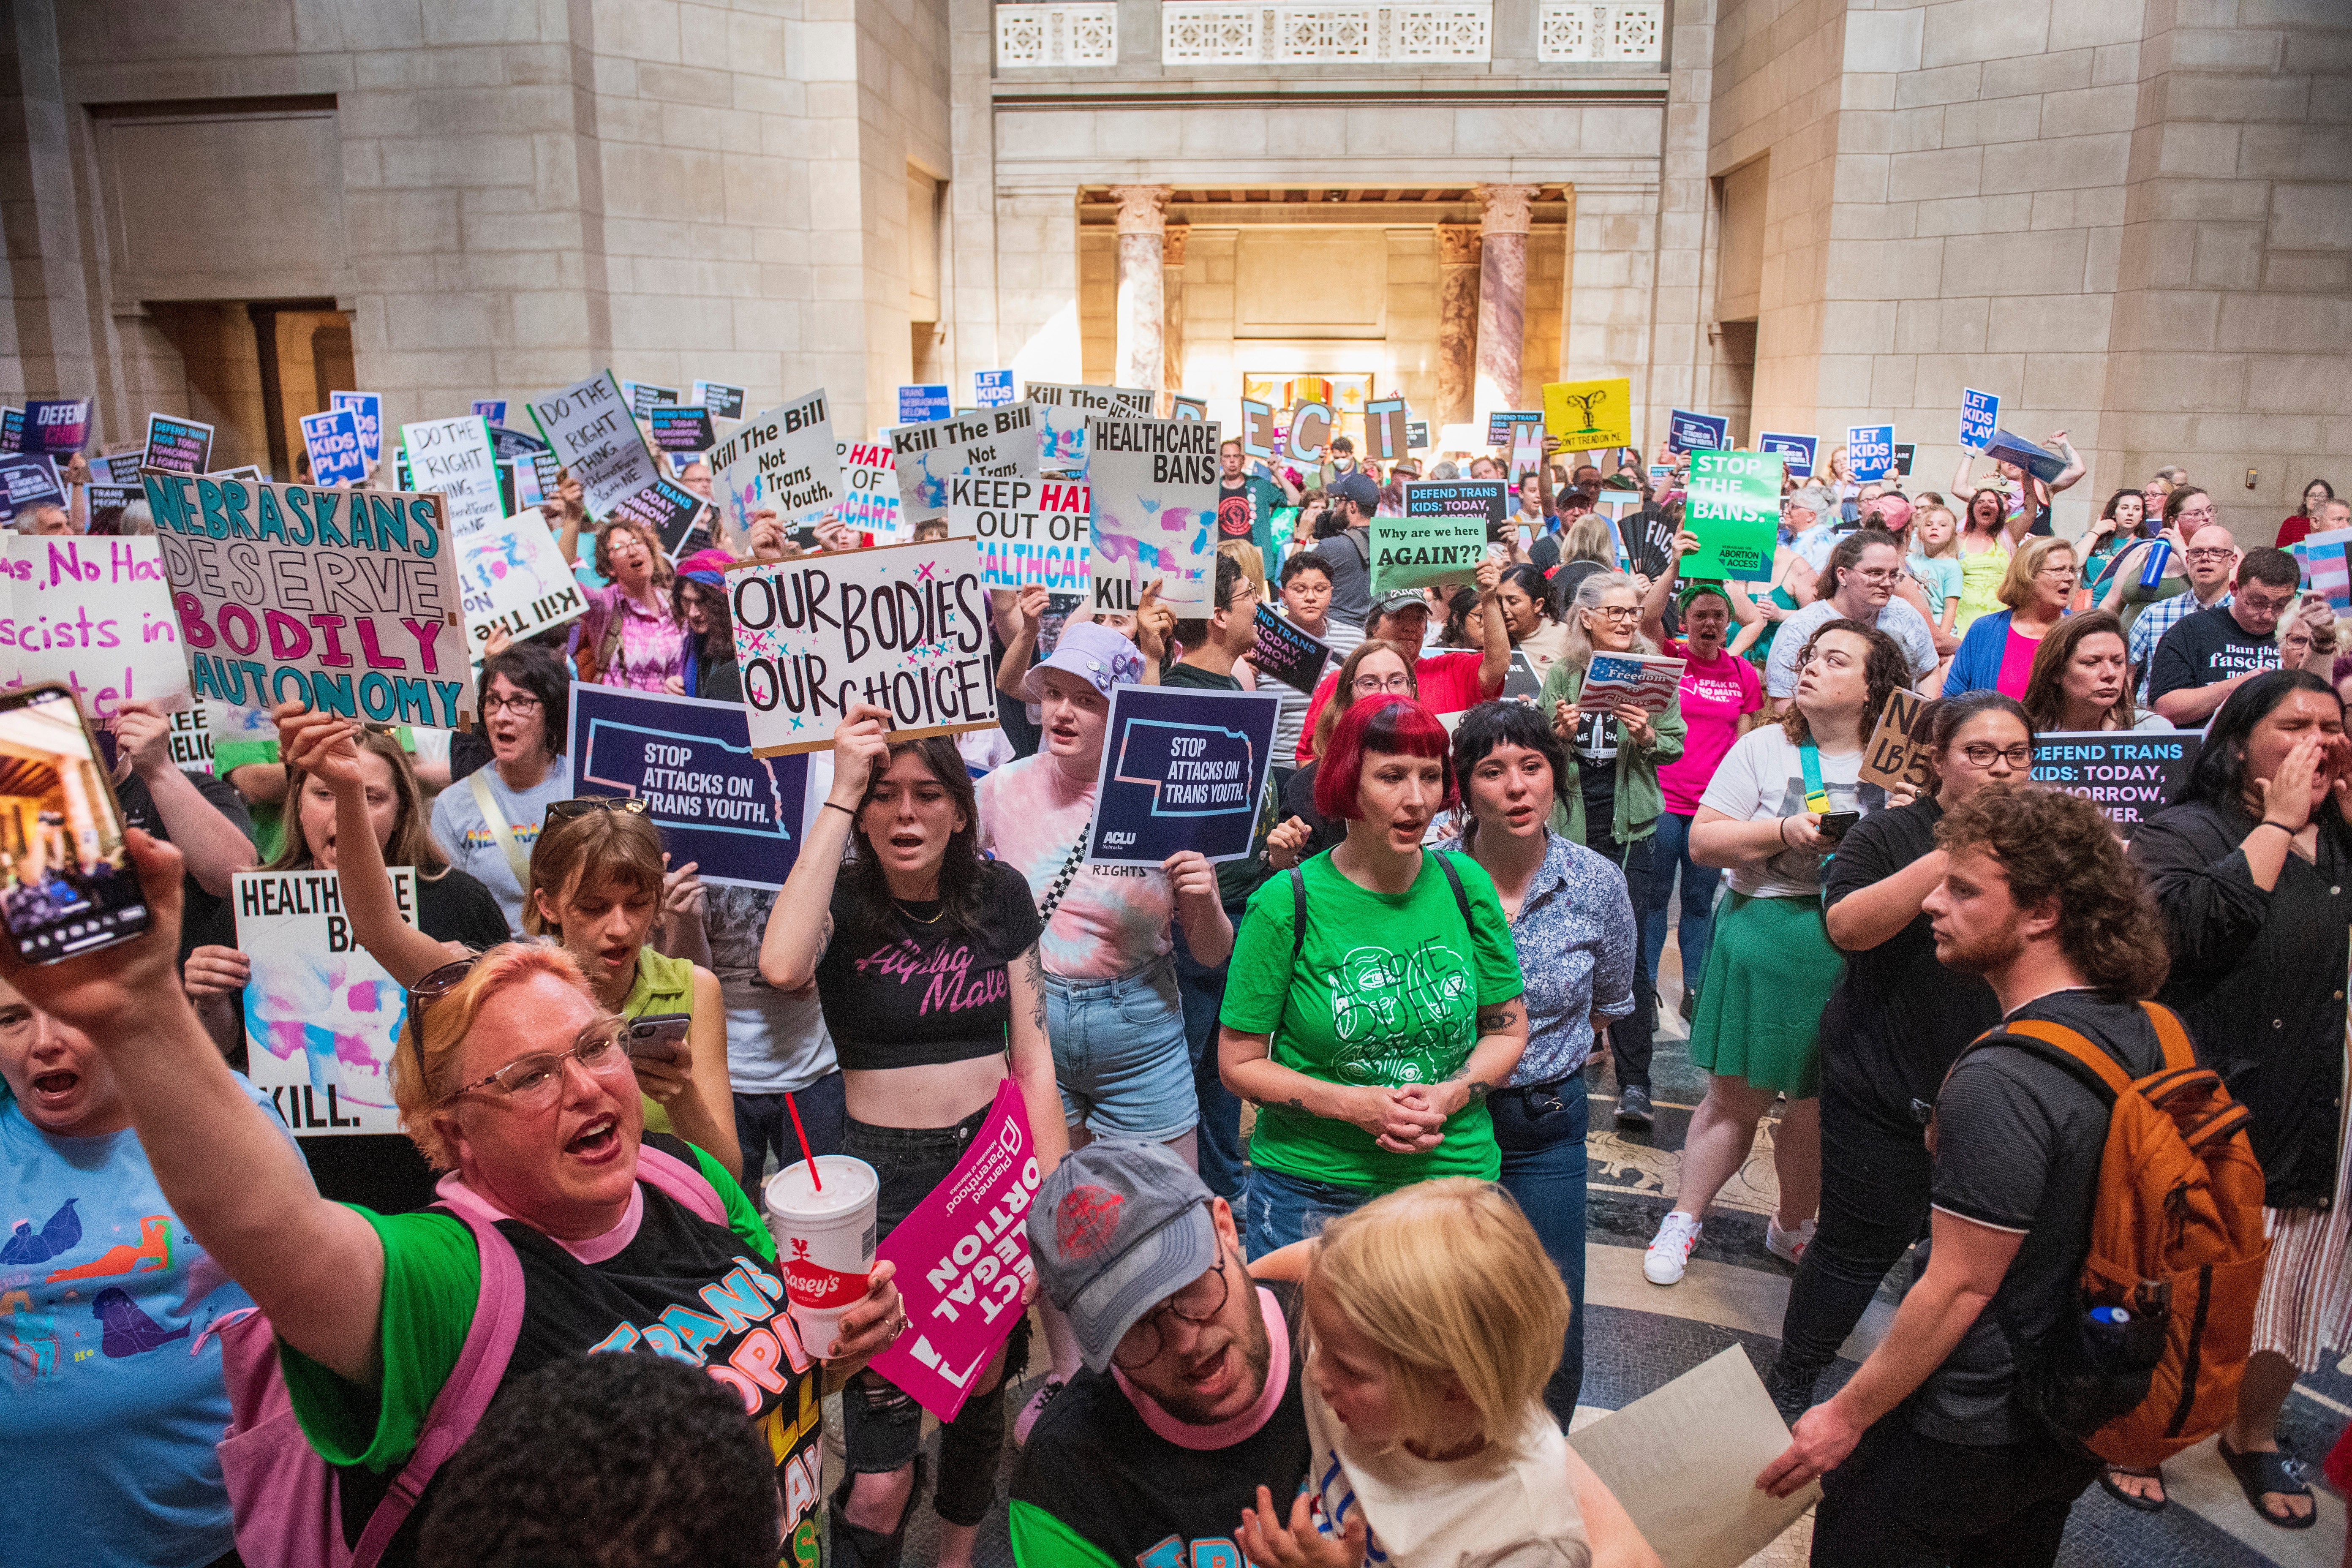
[[[1004,1051],[1011,1023],[1007,966],[1042,926],[1028,882],[981,863],[981,919],[960,929],[941,903],[891,900],[882,938],[856,938],[849,889],[833,889],[833,940],[816,964],[816,999],[849,1072],[929,1067]]]

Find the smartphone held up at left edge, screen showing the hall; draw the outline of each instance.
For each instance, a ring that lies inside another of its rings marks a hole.
[[[0,917],[31,964],[148,929],[122,849],[122,806],[64,686],[0,693]]]

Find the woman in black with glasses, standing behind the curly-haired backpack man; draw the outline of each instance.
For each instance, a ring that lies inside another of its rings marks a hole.
[[[1886,1269],[1926,1232],[1926,1112],[1962,1048],[2002,1020],[1983,978],[1936,961],[1919,905],[1945,872],[1936,823],[1990,783],[2032,778],[2034,731],[2013,698],[1971,691],[1931,710],[1929,757],[1926,795],[1846,830],[1823,877],[1846,964],[1820,1011],[1820,1225],[1764,1380],[1792,1425]]]

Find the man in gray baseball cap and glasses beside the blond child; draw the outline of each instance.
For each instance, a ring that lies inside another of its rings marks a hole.
[[[1014,1561],[1240,1561],[1256,1490],[1296,1497],[1308,1472],[1296,1284],[1251,1279],[1225,1199],[1160,1143],[1073,1150],[1037,1190],[1028,1239],[1084,1371],[1014,1472]]]

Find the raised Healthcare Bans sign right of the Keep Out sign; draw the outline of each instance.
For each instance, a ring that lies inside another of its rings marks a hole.
[[[1160,583],[1178,616],[1216,595],[1216,421],[1087,416],[1094,609],[1131,611]]]

